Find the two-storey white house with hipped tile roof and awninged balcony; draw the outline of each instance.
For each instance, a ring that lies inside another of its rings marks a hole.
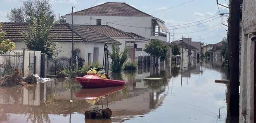
[[[72,23],[72,14],[66,14],[66,23]],[[73,24],[109,25],[124,32],[133,32],[146,39],[167,41],[168,31],[165,22],[146,14],[125,2],[106,2],[102,5],[76,11],[73,13]],[[148,55],[143,51],[146,43],[136,43],[139,55]]]

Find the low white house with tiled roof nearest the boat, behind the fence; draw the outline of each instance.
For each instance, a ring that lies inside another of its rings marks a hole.
[[[28,23],[2,23],[2,30],[7,34],[5,39],[10,39],[15,43],[15,50],[22,50],[26,48],[26,45],[22,43],[24,37],[21,36],[21,32],[30,32]],[[107,42],[109,52],[112,52],[112,43],[121,45],[120,42],[111,39],[103,34],[100,34],[94,30],[90,30],[85,27],[74,26],[73,31],[73,46],[72,46],[72,27],[68,23],[55,24],[50,32],[50,35],[55,35],[55,42],[58,50],[61,50],[58,57],[72,56],[72,47],[77,55],[79,55],[84,62],[99,61],[103,62],[104,44]]]

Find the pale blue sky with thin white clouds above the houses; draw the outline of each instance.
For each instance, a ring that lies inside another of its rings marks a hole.
[[[0,22],[9,22],[6,18],[11,8],[23,5],[24,0],[0,0]],[[227,37],[229,16],[229,0],[49,0],[52,8],[58,16],[103,4],[104,2],[126,2],[128,5],[147,14],[165,21],[170,32],[168,41],[192,38],[192,41],[201,41],[206,44],[218,43]],[[221,18],[220,14],[226,16]],[[57,19],[57,18],[56,18]],[[223,20],[223,21],[222,21]],[[222,24],[225,24],[223,25]]]

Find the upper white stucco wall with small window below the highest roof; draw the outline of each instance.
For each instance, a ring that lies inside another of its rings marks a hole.
[[[140,36],[144,36],[147,39],[150,39],[152,18],[152,16],[73,16],[73,23],[95,25],[96,19],[101,19],[102,25],[106,25],[106,23],[108,22],[107,25],[111,27],[115,27],[124,32],[133,32],[139,34]],[[113,22],[114,24],[111,22]],[[71,15],[66,15],[66,23],[72,23]]]

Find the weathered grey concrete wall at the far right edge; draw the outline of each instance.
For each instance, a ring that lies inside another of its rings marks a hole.
[[[239,101],[239,123],[254,123],[254,43],[256,36],[256,1],[243,0],[241,83]],[[246,113],[246,120],[242,116]]]

